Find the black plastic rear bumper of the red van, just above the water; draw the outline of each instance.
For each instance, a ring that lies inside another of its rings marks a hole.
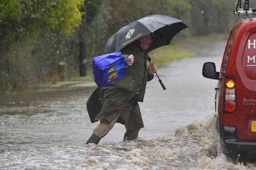
[[[256,162],[256,140],[240,140],[238,139],[238,131],[236,127],[222,126],[219,128],[220,144],[224,152],[237,159],[239,158]]]

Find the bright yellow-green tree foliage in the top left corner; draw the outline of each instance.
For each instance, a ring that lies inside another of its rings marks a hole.
[[[0,46],[8,49],[13,41],[19,43],[26,36],[45,32],[70,34],[80,24],[81,6],[82,0],[2,0],[0,10],[8,15],[0,25]]]

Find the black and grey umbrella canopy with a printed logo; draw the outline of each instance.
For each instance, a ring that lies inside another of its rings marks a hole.
[[[188,28],[182,20],[165,15],[150,15],[129,23],[121,28],[105,43],[101,55],[120,51],[128,44],[147,34],[152,34],[148,53],[163,45],[169,45],[172,38],[181,30]]]

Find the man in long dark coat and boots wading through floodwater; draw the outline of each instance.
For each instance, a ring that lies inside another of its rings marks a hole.
[[[146,82],[151,81],[157,68],[154,63],[148,65],[148,55],[144,52],[150,45],[150,34],[124,47],[122,55],[128,56],[130,67],[125,69],[125,75],[108,85],[97,88],[89,97],[86,106],[92,123],[100,121],[93,130],[86,144],[98,144],[114,124],[125,125],[124,140],[138,137],[143,121],[138,102],[143,102]]]

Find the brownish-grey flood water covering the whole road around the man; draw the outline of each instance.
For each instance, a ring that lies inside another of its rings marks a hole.
[[[218,71],[225,43],[158,67],[166,90],[156,76],[148,82],[135,141],[122,142],[116,124],[98,145],[85,144],[98,125],[86,111],[94,87],[1,97],[0,169],[255,169],[226,158],[214,131],[217,81],[202,77],[202,65]]]

